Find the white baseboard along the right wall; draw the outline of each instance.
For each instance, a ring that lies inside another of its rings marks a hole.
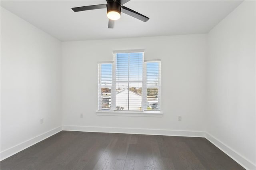
[[[222,150],[225,154],[230,156],[233,160],[235,160],[238,164],[244,167],[247,170],[256,170],[256,165],[238,154],[235,150],[228,147],[226,144],[222,143],[220,140],[205,132],[205,138],[209,140],[212,144],[217,146],[220,150]]]

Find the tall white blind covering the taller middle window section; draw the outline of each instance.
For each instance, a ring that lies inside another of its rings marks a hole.
[[[142,111],[144,53],[114,53],[115,110]]]

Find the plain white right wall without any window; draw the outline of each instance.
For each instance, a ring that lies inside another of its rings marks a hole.
[[[256,168],[255,8],[243,2],[208,34],[206,132],[248,169]]]

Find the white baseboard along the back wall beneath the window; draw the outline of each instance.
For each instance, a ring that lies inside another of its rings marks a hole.
[[[82,132],[106,132],[106,133],[204,137],[204,132],[201,132],[201,131],[163,130],[163,129],[146,129],[146,128],[86,127],[86,126],[65,126],[64,125],[62,126],[62,130],[82,131]]]

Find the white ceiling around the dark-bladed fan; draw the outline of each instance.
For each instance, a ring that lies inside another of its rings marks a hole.
[[[1,6],[61,41],[208,33],[242,1],[131,0],[124,6],[150,20],[121,14],[108,29],[106,9],[73,12],[72,7],[106,4],[105,0],[1,1]]]

